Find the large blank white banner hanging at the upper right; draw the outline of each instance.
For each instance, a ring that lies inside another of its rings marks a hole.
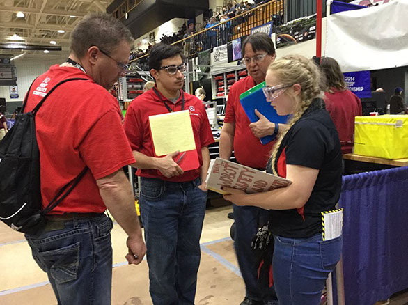
[[[326,56],[343,72],[408,65],[408,1],[327,17]]]

